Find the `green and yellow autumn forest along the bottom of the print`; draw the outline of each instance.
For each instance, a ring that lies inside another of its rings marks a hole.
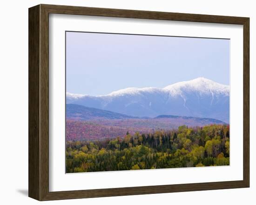
[[[127,132],[124,138],[66,143],[67,173],[226,165],[228,125]]]

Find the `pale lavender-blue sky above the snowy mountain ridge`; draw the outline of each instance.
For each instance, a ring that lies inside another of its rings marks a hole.
[[[197,77],[229,85],[229,40],[66,32],[67,92],[105,95]]]

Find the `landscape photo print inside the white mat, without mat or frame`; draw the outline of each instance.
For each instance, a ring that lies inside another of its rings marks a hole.
[[[229,166],[230,40],[66,32],[66,173]]]

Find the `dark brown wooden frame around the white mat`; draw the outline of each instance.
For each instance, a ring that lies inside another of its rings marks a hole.
[[[249,18],[57,5],[37,5],[28,13],[29,197],[79,199],[249,187]],[[243,180],[49,192],[49,13],[243,25]]]

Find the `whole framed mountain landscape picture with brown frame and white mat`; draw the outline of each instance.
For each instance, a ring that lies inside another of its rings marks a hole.
[[[29,197],[249,187],[249,18],[29,8]]]

